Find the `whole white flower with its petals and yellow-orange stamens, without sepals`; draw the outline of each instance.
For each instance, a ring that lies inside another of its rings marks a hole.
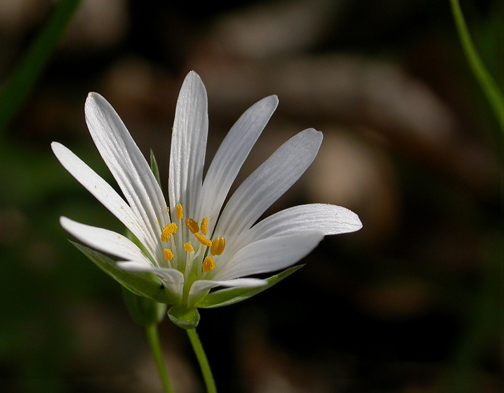
[[[260,100],[231,128],[203,180],[208,110],[206,90],[190,72],[178,97],[171,140],[166,204],[149,164],[112,106],[90,93],[85,112],[91,137],[124,199],[75,154],[53,142],[61,164],[131,231],[142,245],[108,229],[62,217],[62,227],[91,248],[119,258],[128,272],[151,272],[167,302],[198,307],[211,288],[257,288],[267,281],[243,278],[285,269],[310,253],[326,234],[362,227],[340,206],[309,204],[254,223],[302,175],[317,155],[322,133],[307,129],[284,143],[234,192],[241,165],[277,107]]]

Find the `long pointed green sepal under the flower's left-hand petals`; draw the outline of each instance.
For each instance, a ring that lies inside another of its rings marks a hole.
[[[150,298],[155,302],[173,304],[173,302],[168,299],[164,288],[156,281],[148,278],[146,274],[140,272],[126,272],[123,269],[119,269],[119,267],[116,266],[116,262],[106,255],[75,243],[74,241],[69,240],[69,242],[76,246],[77,249],[86,255],[96,266],[100,267],[103,272],[107,273],[112,279],[116,280],[119,284],[125,286],[133,293],[145,298]]]

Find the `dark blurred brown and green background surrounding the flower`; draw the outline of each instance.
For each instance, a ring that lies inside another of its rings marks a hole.
[[[0,1],[0,81],[54,6]],[[502,89],[503,4],[461,6]],[[267,214],[325,202],[364,224],[326,237],[274,288],[201,310],[219,392],[502,392],[500,130],[448,0],[82,0],[0,135],[1,392],[161,392],[119,284],[69,244],[58,218],[121,225],[50,143],[112,182],[84,122],[97,91],[142,152],[154,150],[166,188],[191,69],[208,91],[207,161],[245,109],[277,94],[237,183],[314,127],[319,156]],[[159,329],[175,392],[204,392],[185,332],[167,319]]]

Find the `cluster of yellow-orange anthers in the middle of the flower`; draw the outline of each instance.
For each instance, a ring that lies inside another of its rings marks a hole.
[[[180,225],[184,218],[184,209],[181,204],[175,206],[175,217],[179,221]],[[188,270],[190,271],[191,269],[192,261],[195,260],[200,253],[203,253],[203,255],[205,255],[205,253],[208,252],[208,248],[209,252],[213,256],[218,256],[222,254],[226,246],[226,240],[223,237],[216,237],[215,239],[213,239],[213,241],[211,239],[206,238],[206,236],[208,235],[207,217],[201,220],[201,225],[198,225],[198,222],[196,220],[192,218],[187,218],[185,220],[185,226],[187,227],[187,229],[190,230],[190,233],[200,244],[200,246],[198,247],[198,251],[196,251],[195,253],[194,247],[190,239],[185,239],[187,240],[185,242],[184,239],[181,239],[182,241],[180,243],[183,244],[184,250],[187,253],[186,266],[185,266],[185,270],[187,273]],[[178,225],[175,222],[171,222],[170,224],[166,225],[161,231],[161,241],[168,243],[168,241],[171,240],[172,235],[176,234],[177,232],[178,232]],[[179,236],[183,237],[184,235],[180,234]],[[163,253],[164,253],[164,260],[166,260],[166,262],[170,262],[171,260],[173,260],[173,258],[175,258],[175,254],[173,254],[173,251],[171,251],[170,248],[164,248]],[[208,273],[211,272],[213,269],[215,269],[215,261],[210,255],[208,255],[204,258],[203,262],[201,262],[201,272]]]

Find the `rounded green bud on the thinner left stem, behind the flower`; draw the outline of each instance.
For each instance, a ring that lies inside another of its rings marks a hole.
[[[153,324],[157,325],[164,319],[166,304],[138,296],[125,286],[122,287],[122,292],[128,312],[137,324],[147,327]]]

